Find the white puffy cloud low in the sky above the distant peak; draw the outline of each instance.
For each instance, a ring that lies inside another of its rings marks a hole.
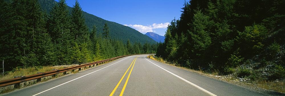
[[[125,24],[125,26],[129,26],[129,27],[132,27],[134,29],[136,29],[137,31],[141,32],[141,33],[146,33],[146,32],[155,32],[153,31],[153,29],[158,29],[158,28],[167,28],[167,26],[169,25],[170,23],[167,22],[167,23],[160,23],[160,24],[152,24],[152,25],[149,25],[149,26],[143,26],[143,25],[127,25]]]

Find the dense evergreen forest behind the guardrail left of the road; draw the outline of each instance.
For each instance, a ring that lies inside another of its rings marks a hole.
[[[109,21],[101,22],[102,27],[94,24],[89,28],[78,1],[69,10],[66,1],[60,0],[49,12],[41,8],[38,0],[0,3],[0,59],[5,71],[16,67],[84,64],[156,51],[157,43],[153,40],[132,42],[130,39],[135,37],[113,36],[122,28],[110,28]]]

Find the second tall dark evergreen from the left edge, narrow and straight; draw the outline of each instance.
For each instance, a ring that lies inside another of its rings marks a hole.
[[[27,57],[28,50],[30,49],[30,44],[28,43],[27,37],[27,7],[25,6],[26,2],[25,0],[16,0],[12,3],[12,17],[10,24],[11,26],[8,26],[7,30],[11,36],[10,42],[13,47],[9,50],[13,50],[9,52],[9,54],[12,57],[14,57],[14,60],[16,64],[20,64],[20,66],[23,66],[21,64],[20,60],[22,57]],[[6,43],[9,45],[9,43]],[[13,59],[12,59],[13,60]]]

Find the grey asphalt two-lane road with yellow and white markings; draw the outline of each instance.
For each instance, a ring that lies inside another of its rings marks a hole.
[[[124,57],[6,95],[262,95],[242,87],[162,64],[148,59],[146,56]]]

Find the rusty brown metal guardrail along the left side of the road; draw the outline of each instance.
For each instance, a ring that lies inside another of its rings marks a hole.
[[[143,55],[143,54],[132,54],[132,55]],[[86,66],[91,66],[91,65],[95,66],[95,64],[105,63],[105,62],[113,61],[113,60],[116,60],[116,59],[119,59],[122,57],[127,57],[127,56],[131,56],[131,55],[124,55],[124,56],[114,57],[111,59],[101,60],[101,61],[97,61],[97,62],[82,64],[82,65],[78,65],[78,66],[72,66],[72,67],[68,67],[68,68],[63,68],[63,69],[59,69],[59,70],[53,70],[53,71],[48,71],[48,72],[44,72],[44,73],[33,74],[33,75],[3,80],[3,81],[0,81],[0,87],[13,85],[13,84],[19,84],[19,83],[30,81],[30,80],[36,80],[36,79],[43,78],[46,76],[51,76],[51,75],[55,75],[58,73],[67,72],[70,70],[81,69],[82,67],[86,67]]]

